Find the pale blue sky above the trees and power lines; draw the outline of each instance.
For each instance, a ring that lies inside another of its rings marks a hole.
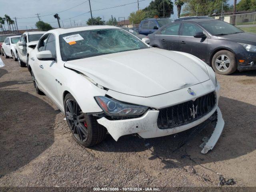
[[[64,25],[65,28],[70,27],[71,20],[72,26],[74,26],[74,24],[78,26],[85,26],[86,21],[88,18],[90,18],[89,2],[85,1],[86,0],[0,0],[0,16],[3,17],[4,14],[8,14],[11,18],[16,17],[18,18],[17,23],[19,29],[31,29],[36,28],[35,23],[38,21],[36,14],[38,13],[40,14],[39,16],[41,16],[40,19],[42,21],[50,23],[53,27],[58,27],[57,20],[53,17],[53,14],[80,4],[75,8],[59,13],[60,24],[61,26]],[[148,6],[152,0],[139,1],[141,1],[139,2],[139,8],[143,9]],[[240,0],[238,0],[238,2],[239,1]],[[90,0],[90,2],[92,8],[92,16],[100,16],[102,19],[104,18],[105,21],[110,19],[111,15],[116,17],[117,20],[118,17],[120,17],[120,20],[123,20],[121,17],[128,19],[128,16],[131,12],[138,10],[137,0]],[[174,0],[172,0],[172,2],[174,2]],[[229,0],[229,4],[232,4],[233,2],[233,0]],[[123,4],[129,5],[110,8]],[[110,9],[99,10],[104,8]],[[177,18],[176,6],[174,6],[174,15],[172,15],[171,18]]]

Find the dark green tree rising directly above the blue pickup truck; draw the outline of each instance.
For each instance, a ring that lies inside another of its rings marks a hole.
[[[146,12],[146,17],[170,17],[173,14],[173,2],[171,0],[153,0],[143,10]]]

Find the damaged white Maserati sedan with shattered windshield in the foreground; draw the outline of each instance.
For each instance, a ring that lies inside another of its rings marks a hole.
[[[214,71],[148,41],[114,26],[54,29],[30,53],[28,67],[36,91],[66,114],[79,144],[98,144],[107,132],[116,141],[154,138],[215,121],[202,150],[208,152],[224,127]]]

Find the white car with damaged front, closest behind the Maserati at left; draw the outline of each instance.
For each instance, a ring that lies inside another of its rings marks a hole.
[[[43,31],[24,32],[16,44],[16,54],[20,67],[26,67],[28,55],[36,47],[38,40],[44,34]]]

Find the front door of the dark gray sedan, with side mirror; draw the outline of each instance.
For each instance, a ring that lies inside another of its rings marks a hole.
[[[195,38],[197,32],[207,33],[197,24],[184,22],[180,30],[180,51],[190,53],[203,61],[206,61],[207,56],[207,38]]]

